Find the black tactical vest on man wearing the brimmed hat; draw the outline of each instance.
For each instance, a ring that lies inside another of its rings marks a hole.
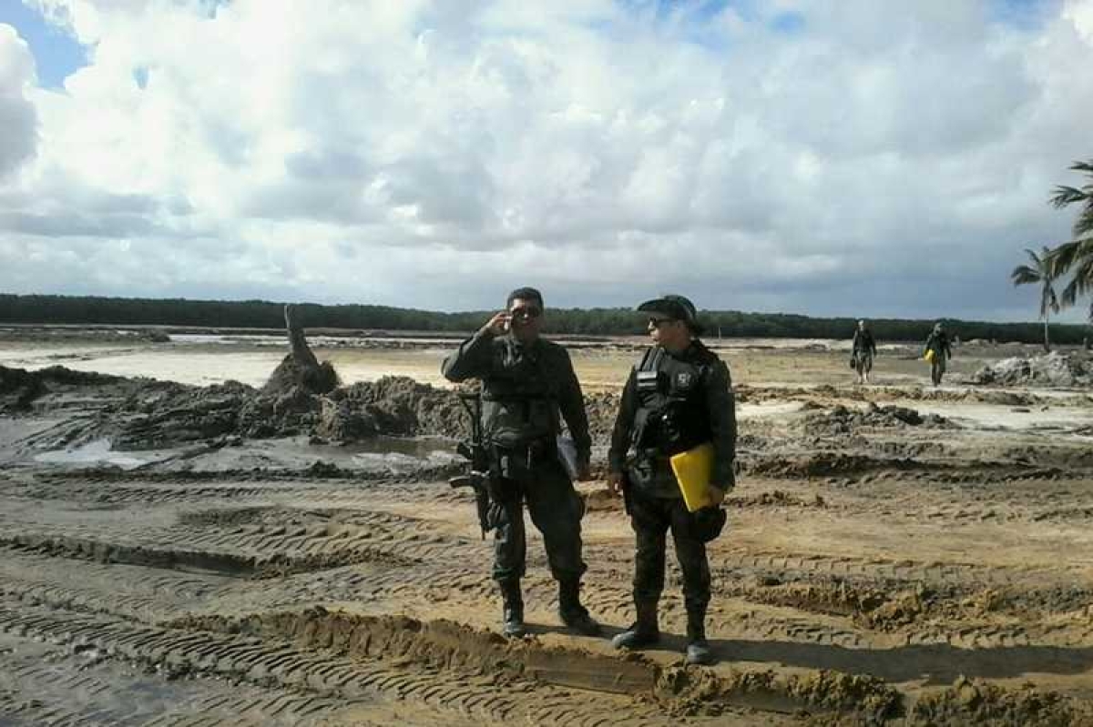
[[[705,350],[698,342],[693,345]],[[710,441],[707,369],[659,346],[645,351],[636,369],[638,407],[631,441],[638,461],[665,460]]]

